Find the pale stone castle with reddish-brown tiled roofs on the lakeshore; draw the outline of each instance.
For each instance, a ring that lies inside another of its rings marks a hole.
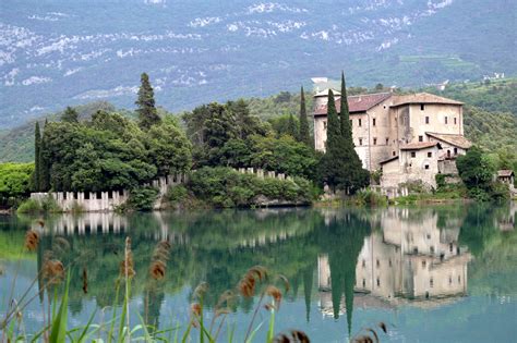
[[[314,95],[314,145],[325,151],[329,88]],[[339,111],[341,96],[333,89]],[[369,171],[383,171],[383,187],[421,180],[436,186],[437,173],[455,174],[455,158],[471,143],[464,136],[462,102],[428,93],[348,97],[356,151]]]

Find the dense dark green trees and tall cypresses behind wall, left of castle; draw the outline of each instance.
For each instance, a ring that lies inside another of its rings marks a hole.
[[[346,98],[341,74],[341,94]],[[156,176],[203,167],[254,167],[301,176],[350,193],[368,171],[354,151],[347,101],[337,115],[328,95],[328,140],[315,151],[301,88],[297,115],[263,121],[243,99],[212,102],[177,117],[159,114],[146,73],[141,75],[136,120],[97,111],[81,120],[69,107],[59,121],[35,124],[34,191],[132,189]]]

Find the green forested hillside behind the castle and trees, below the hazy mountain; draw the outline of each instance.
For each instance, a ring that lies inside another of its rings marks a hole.
[[[349,95],[383,90],[376,88],[349,88]],[[506,148],[517,150],[517,79],[503,79],[482,83],[452,84],[443,91],[436,88],[420,90],[434,93],[444,97],[461,100],[465,106],[465,134],[483,148],[495,150]],[[312,93],[305,91],[306,107],[312,109]],[[251,114],[269,121],[274,128],[281,131],[287,125],[289,114],[297,114],[300,109],[300,94],[281,91],[267,98],[248,99]],[[76,107],[80,118],[89,118],[97,110],[115,111],[106,101],[92,102]],[[125,117],[134,117],[133,111],[117,110]],[[165,112],[161,110],[161,112]],[[39,119],[52,121],[59,113]],[[178,115],[180,113],[177,113]],[[29,162],[34,160],[34,124],[31,121],[11,131],[0,132],[0,162]]]

